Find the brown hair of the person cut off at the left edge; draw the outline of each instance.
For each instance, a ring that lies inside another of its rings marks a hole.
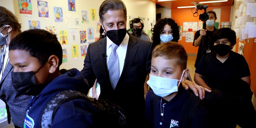
[[[0,28],[6,24],[12,26],[13,30],[21,32],[21,25],[18,22],[18,18],[7,8],[0,6]]]

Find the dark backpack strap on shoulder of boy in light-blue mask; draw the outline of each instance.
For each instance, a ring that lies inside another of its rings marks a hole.
[[[179,119],[179,128],[190,128],[194,114],[203,104],[203,101],[196,96],[191,96],[188,92],[188,98],[182,107]]]

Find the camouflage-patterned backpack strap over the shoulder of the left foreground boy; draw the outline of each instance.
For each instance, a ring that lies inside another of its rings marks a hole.
[[[68,100],[73,99],[86,99],[86,95],[82,92],[74,90],[60,91],[58,94],[53,96],[44,107],[44,112],[41,118],[41,127],[50,128],[52,126],[52,120],[55,116],[58,107]]]

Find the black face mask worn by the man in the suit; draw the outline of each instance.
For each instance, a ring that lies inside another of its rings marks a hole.
[[[116,45],[120,45],[122,41],[124,40],[124,37],[126,35],[126,28],[121,28],[118,30],[108,30],[107,36],[108,38],[115,43]]]

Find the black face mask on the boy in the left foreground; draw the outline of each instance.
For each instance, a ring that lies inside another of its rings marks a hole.
[[[40,68],[38,70],[40,70]],[[38,70],[36,72],[38,72]],[[36,84],[34,76],[36,72],[12,72],[12,85],[15,90],[20,94],[24,95],[37,96],[38,94],[40,94],[40,92],[42,92],[47,84]],[[48,75],[48,78],[49,76],[50,74]],[[46,79],[46,81],[48,80],[48,78]]]

